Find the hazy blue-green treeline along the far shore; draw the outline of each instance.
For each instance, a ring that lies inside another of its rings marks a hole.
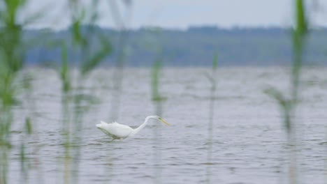
[[[84,26],[87,33],[89,27]],[[106,58],[105,65],[115,62],[115,51],[119,31],[93,27],[89,34],[92,49],[99,49],[96,33],[110,38],[113,52]],[[191,26],[189,29],[171,30],[147,27],[132,30],[125,45],[127,66],[152,66],[161,59],[165,66],[211,66],[215,52],[220,66],[271,66],[286,65],[291,61],[291,29],[280,28],[233,28],[219,29],[216,26]],[[29,49],[26,61],[29,65],[56,65],[61,61],[59,42],[68,45],[68,60],[80,60],[78,50],[73,47],[70,30],[27,30],[24,31]],[[29,40],[36,40],[31,42]],[[305,50],[305,62],[322,64],[327,60],[327,29],[310,31]]]

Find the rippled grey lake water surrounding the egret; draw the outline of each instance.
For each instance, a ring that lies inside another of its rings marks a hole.
[[[327,68],[305,68],[297,109],[299,183],[327,183]],[[81,142],[71,146],[75,183],[289,183],[289,146],[275,100],[268,86],[289,91],[287,68],[219,68],[213,115],[212,159],[208,160],[210,68],[163,68],[160,73],[162,117],[171,126],[151,121],[131,139],[112,141],[96,129],[99,121],[137,127],[156,113],[151,100],[150,70],[124,70],[119,106],[113,70],[97,69],[80,91],[99,102],[82,116]],[[31,68],[31,100],[21,93],[15,107],[9,183],[64,183],[64,133],[61,85],[54,70]],[[118,101],[117,101],[118,102]],[[112,109],[115,107],[117,109]],[[118,108],[119,107],[119,108]],[[25,138],[31,162],[22,178],[20,143],[23,121],[33,114],[34,135]],[[162,124],[162,125],[161,125]],[[75,148],[80,147],[80,152]],[[209,162],[209,163],[208,163]],[[24,180],[24,181],[23,181]]]

